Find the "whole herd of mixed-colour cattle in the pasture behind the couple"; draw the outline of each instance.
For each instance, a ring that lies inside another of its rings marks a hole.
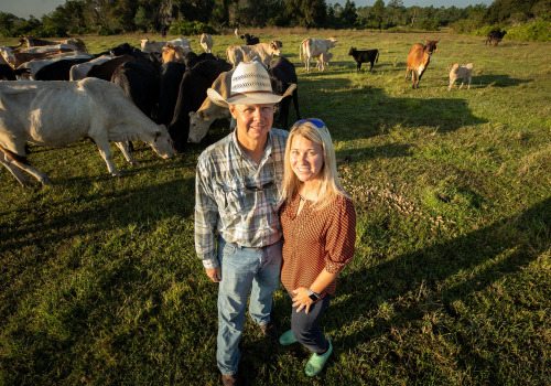
[[[294,64],[281,56],[280,41],[261,43],[238,30],[235,34],[247,44],[228,46],[227,61],[213,55],[213,37],[208,34],[199,36],[205,52],[198,55],[183,37],[169,42],[145,39],[141,50],[123,43],[95,55],[79,39],[52,42],[25,36],[18,46],[0,47],[0,81],[25,81],[0,82],[0,163],[22,185],[31,184],[22,171],[42,184],[51,184],[45,174],[29,164],[26,142],[61,147],[88,137],[96,142],[109,172],[118,176],[109,141],[134,164],[129,152],[133,139],[143,140],[169,158],[174,150],[183,151],[187,141],[199,142],[215,120],[231,120],[229,110],[213,104],[206,90],[213,87],[229,97],[233,68],[240,62],[263,63],[277,94],[298,83]],[[439,41],[411,47],[406,77],[411,71],[413,88],[419,86]],[[302,62],[304,56],[306,72],[312,58],[317,58],[318,71],[324,71],[336,43],[334,37],[304,39],[299,58]],[[25,44],[28,47],[23,47]],[[348,55],[358,72],[361,63],[369,63],[372,71],[379,52],[352,47]],[[454,65],[449,90],[457,78],[467,78],[469,86],[472,69],[473,64]],[[291,101],[300,119],[296,89],[276,108],[283,129],[288,129]]]

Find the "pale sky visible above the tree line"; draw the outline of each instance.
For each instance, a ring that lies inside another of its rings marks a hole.
[[[372,6],[375,0],[353,0],[356,7]],[[385,4],[388,0],[383,0]],[[341,6],[346,3],[346,0],[325,0],[326,3],[334,4],[338,2]],[[493,0],[403,0],[406,7],[430,7],[435,8],[444,7],[450,8],[455,6],[457,8],[465,8],[475,4],[489,6]],[[57,6],[64,4],[65,0],[0,0],[0,11],[13,13],[17,17],[29,19],[32,14],[35,18],[42,18],[45,13],[55,10]]]

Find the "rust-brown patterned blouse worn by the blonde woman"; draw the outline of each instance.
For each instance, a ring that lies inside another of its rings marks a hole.
[[[356,212],[352,201],[337,196],[322,211],[312,208],[306,201],[296,215],[301,197],[280,211],[283,228],[283,269],[281,282],[291,292],[296,288],[309,288],[324,268],[338,274],[353,258],[356,243]],[[322,293],[333,294],[336,280]]]

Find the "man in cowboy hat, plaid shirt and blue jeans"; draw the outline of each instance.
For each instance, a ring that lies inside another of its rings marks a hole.
[[[224,385],[237,385],[247,299],[249,313],[267,337],[277,337],[270,319],[272,297],[280,285],[280,186],[288,132],[271,129],[273,107],[290,95],[276,95],[266,67],[240,63],[224,99],[237,120],[234,132],[208,147],[197,161],[195,249],[218,288],[217,362]],[[217,242],[217,243],[216,243]]]

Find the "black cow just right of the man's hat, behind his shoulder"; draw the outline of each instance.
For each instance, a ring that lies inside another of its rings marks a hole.
[[[294,65],[289,62],[287,57],[280,57],[276,61],[270,62],[268,74],[270,75],[270,83],[272,85],[273,93],[278,95],[283,95],[292,83],[298,83]],[[296,111],[296,119],[301,119],[301,114],[299,111],[298,93],[298,88],[295,88],[292,96],[290,95],[283,98],[283,100],[281,100],[276,106],[276,109],[279,111],[279,122],[281,125],[281,128],[284,130],[287,130],[289,127],[288,119],[291,98],[293,99],[294,110]]]

